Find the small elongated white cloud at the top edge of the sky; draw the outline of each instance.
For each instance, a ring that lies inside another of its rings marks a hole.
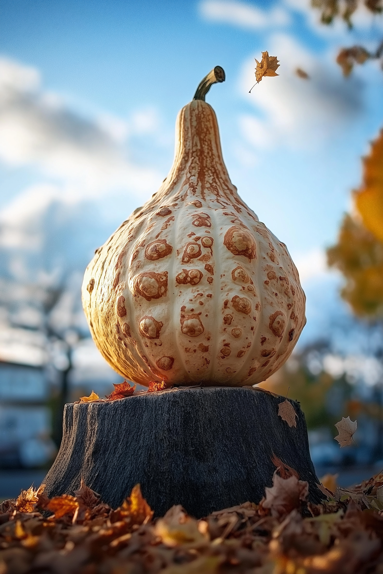
[[[280,7],[264,11],[237,0],[204,0],[199,7],[200,13],[206,20],[225,22],[239,28],[257,30],[289,24],[287,11]]]

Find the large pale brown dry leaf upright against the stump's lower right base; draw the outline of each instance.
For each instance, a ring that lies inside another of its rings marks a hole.
[[[308,482],[298,480],[296,476],[283,479],[274,472],[273,486],[265,488],[265,499],[261,504],[270,509],[272,516],[289,514],[293,509],[300,507],[308,495]]]

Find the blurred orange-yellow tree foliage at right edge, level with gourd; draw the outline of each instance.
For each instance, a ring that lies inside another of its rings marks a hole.
[[[330,267],[346,279],[342,297],[359,317],[383,318],[383,130],[363,160],[363,182],[353,194],[338,242],[327,250]]]

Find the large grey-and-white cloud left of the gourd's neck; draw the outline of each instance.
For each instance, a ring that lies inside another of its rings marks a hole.
[[[149,116],[152,125],[152,111]],[[121,145],[128,131],[119,118],[80,117],[41,89],[36,69],[0,59],[0,160],[6,164],[32,165],[76,183],[82,197],[122,187],[148,192],[160,177],[129,161]]]

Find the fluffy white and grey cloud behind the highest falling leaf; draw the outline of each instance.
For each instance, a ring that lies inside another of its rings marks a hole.
[[[286,34],[270,38],[269,46],[280,60],[278,77],[265,77],[248,94],[256,64],[249,59],[243,66],[241,93],[261,115],[239,118],[246,141],[257,148],[312,147],[355,122],[363,109],[362,83],[356,77],[345,80],[332,54],[316,57]],[[297,68],[309,79],[298,77]]]

